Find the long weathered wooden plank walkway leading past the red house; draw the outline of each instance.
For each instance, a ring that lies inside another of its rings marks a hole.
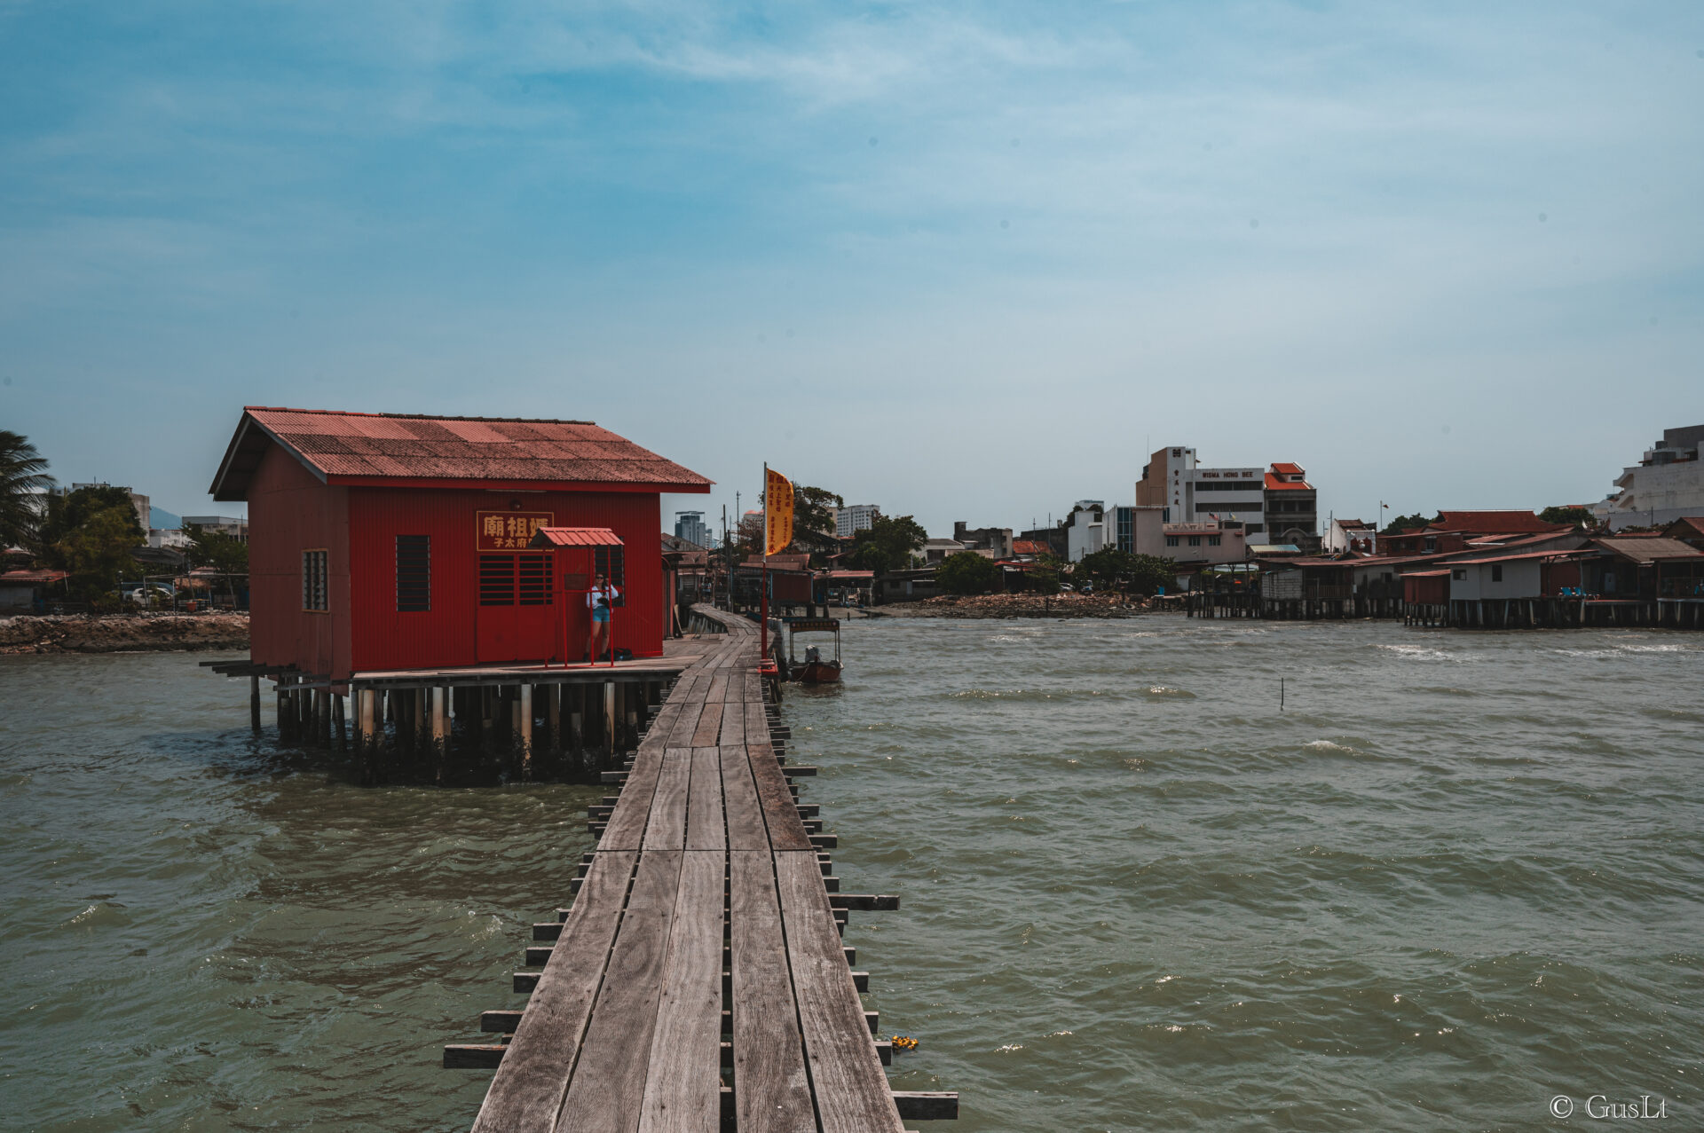
[[[571,908],[533,925],[515,990],[486,1012],[489,1044],[445,1067],[496,1067],[475,1133],[898,1133],[956,1118],[956,1094],[895,1092],[878,1019],[842,942],[847,910],[816,808],[799,806],[758,673],[757,627],[709,607],[682,673],[625,770],[593,808]]]

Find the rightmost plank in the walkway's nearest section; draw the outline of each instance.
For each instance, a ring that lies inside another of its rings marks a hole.
[[[903,1133],[815,854],[775,854],[787,964],[823,1133]]]

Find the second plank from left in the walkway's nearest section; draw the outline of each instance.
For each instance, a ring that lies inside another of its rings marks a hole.
[[[632,1133],[639,1126],[680,891],[680,850],[646,850],[639,857],[579,1065],[556,1121],[564,1133]]]

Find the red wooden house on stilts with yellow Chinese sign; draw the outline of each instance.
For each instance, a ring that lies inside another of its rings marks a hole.
[[[538,528],[605,533],[613,646],[661,656],[659,494],[711,480],[588,421],[250,405],[211,491],[249,503],[250,659],[341,683],[584,659],[586,566]]]

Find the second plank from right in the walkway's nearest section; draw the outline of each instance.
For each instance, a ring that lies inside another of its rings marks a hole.
[[[770,855],[729,854],[728,883],[736,1128],[815,1133]]]

